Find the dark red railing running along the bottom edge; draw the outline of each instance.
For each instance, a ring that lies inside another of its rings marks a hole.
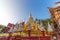
[[[40,37],[9,36],[0,38],[0,40],[51,40],[51,38],[50,36],[40,36]]]

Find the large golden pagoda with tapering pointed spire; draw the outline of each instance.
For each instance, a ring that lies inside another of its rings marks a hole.
[[[30,12],[30,15],[29,15],[26,23],[25,23],[24,31],[27,31],[28,32],[28,30],[29,30],[28,29],[29,23],[30,23],[31,35],[32,36],[37,36],[37,33],[38,33],[38,24],[33,19],[31,12]]]

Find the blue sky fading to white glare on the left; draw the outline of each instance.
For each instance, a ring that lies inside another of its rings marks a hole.
[[[59,0],[0,0],[0,24],[26,21],[30,11],[34,19],[50,18],[48,7]]]

